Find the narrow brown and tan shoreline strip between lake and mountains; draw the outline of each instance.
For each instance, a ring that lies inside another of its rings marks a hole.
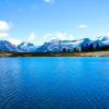
[[[109,57],[109,51],[93,52],[13,52],[0,51],[2,57]]]

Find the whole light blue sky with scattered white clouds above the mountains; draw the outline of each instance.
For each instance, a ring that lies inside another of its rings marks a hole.
[[[109,0],[0,0],[0,39],[41,45],[109,35]]]

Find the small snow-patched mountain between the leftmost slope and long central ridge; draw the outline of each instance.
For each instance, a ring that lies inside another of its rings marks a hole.
[[[35,52],[37,47],[31,43],[22,43],[17,46],[21,52]]]

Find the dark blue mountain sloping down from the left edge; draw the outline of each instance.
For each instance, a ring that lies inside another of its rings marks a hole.
[[[0,50],[20,51],[15,45],[12,45],[7,40],[0,40]]]

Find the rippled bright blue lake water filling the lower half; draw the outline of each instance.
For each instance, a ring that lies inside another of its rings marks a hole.
[[[0,109],[109,109],[109,58],[0,58]]]

